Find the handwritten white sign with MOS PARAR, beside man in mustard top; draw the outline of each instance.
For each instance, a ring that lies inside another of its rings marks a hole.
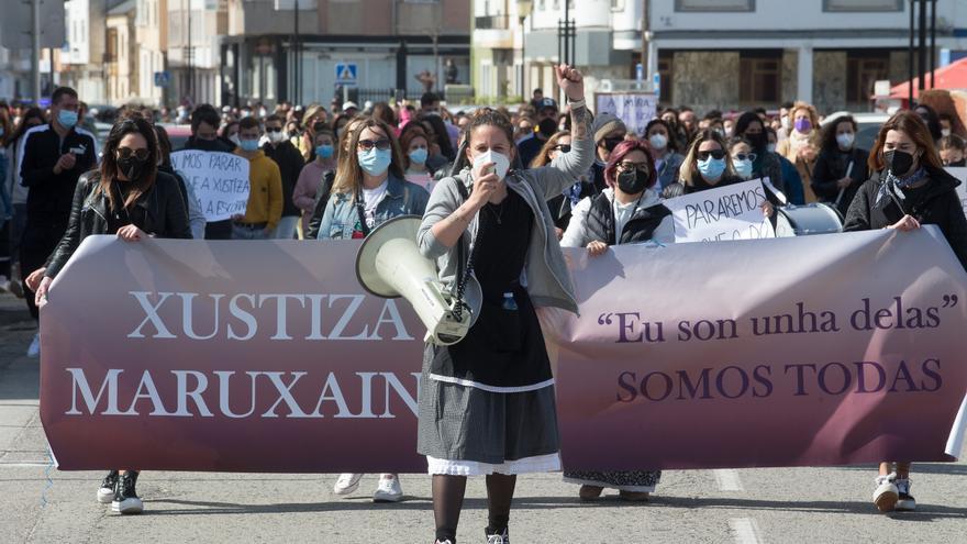
[[[171,166],[194,190],[205,221],[244,214],[248,207],[248,160],[232,153],[186,149],[171,154]]]

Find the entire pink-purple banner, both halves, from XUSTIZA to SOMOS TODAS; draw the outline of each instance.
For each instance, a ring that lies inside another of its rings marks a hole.
[[[571,252],[581,317],[543,315],[565,466],[949,460],[967,276],[937,236]],[[59,467],[424,471],[424,330],[357,247],[86,240],[42,311]]]

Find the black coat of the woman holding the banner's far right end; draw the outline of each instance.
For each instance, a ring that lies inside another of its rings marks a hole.
[[[913,215],[922,225],[937,225],[960,264],[967,268],[967,219],[957,196],[960,181],[943,169],[927,167],[930,181],[921,190],[907,189],[907,199],[893,198],[888,192],[879,202],[877,195],[882,181],[879,173],[863,184],[846,213],[844,231],[885,229]]]

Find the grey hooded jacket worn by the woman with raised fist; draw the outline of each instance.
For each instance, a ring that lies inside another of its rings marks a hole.
[[[542,168],[513,170],[507,175],[504,181],[508,189],[523,197],[534,212],[535,227],[531,230],[531,242],[522,278],[531,300],[535,307],[555,307],[577,313],[574,287],[554,231],[553,217],[547,208],[547,200],[573,186],[574,180],[587,173],[594,162],[594,142],[589,126],[590,113],[587,109],[579,108],[574,112],[574,116],[573,124],[580,123],[585,130],[573,131],[574,140],[569,153],[558,155],[549,165]],[[473,190],[474,180],[469,168],[464,168],[456,176],[444,178],[436,185],[430,196],[418,233],[420,252],[427,258],[436,259],[440,280],[448,288],[456,281],[457,246],[445,246],[433,235],[431,229],[463,204],[464,199],[456,184],[463,184],[467,188],[467,193]],[[464,258],[470,255],[471,243],[477,235],[479,215],[478,212],[463,234]]]

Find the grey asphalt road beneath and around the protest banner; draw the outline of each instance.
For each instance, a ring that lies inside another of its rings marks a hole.
[[[404,502],[373,504],[376,476],[340,499],[331,495],[334,475],[149,471],[138,481],[145,514],[112,514],[95,501],[101,473],[49,467],[37,362],[24,356],[33,333],[20,302],[0,296],[0,543],[433,542],[425,475],[401,477]],[[914,465],[919,510],[903,514],[876,512],[875,474],[870,466],[666,471],[644,504],[582,503],[560,475],[526,476],[511,536],[515,544],[967,542],[967,464]],[[459,542],[486,542],[486,524],[484,481],[473,479]]]

